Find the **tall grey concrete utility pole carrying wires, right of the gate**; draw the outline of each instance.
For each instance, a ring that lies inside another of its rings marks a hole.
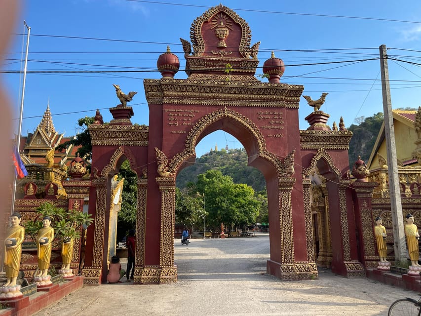
[[[382,74],[384,134],[386,139],[387,168],[389,175],[390,210],[392,212],[393,247],[395,260],[407,261],[402,202],[399,188],[398,163],[396,158],[395,131],[393,127],[392,102],[390,99],[389,70],[386,45],[381,45],[380,68]]]

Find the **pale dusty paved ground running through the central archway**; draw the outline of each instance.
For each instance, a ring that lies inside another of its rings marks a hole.
[[[175,284],[87,286],[36,316],[387,315],[398,298],[418,293],[320,270],[316,280],[266,275],[268,235],[175,241]]]

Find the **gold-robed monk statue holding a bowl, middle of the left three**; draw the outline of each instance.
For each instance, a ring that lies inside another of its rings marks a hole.
[[[50,227],[51,221],[48,218],[42,220],[43,227],[38,231],[38,276],[47,276],[51,260],[51,245],[54,239],[54,229]]]

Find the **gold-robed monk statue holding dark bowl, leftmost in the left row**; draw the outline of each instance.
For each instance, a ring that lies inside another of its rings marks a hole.
[[[20,221],[20,213],[10,215],[11,226],[8,228],[7,237],[4,240],[4,270],[7,281],[3,286],[15,286],[19,275],[22,242],[25,238],[25,228],[19,225]]]

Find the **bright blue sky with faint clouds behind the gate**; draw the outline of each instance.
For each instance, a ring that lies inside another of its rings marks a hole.
[[[129,103],[134,111],[132,121],[149,124],[143,79],[161,77],[155,71],[156,60],[167,45],[178,55],[180,69],[184,69],[179,38],[190,40],[193,20],[220,2],[23,1],[15,33],[25,31],[24,20],[31,27],[28,71],[92,73],[28,73],[22,134],[37,127],[48,100],[54,126],[66,136],[76,134],[78,118],[94,116],[96,109],[101,109],[104,120],[110,121],[108,108],[119,104],[113,83],[119,84],[124,92],[138,91]],[[329,125],[333,121],[338,123],[341,116],[349,126],[356,118],[383,112],[380,61],[356,62],[378,58],[382,44],[390,48],[390,57],[401,60],[388,62],[392,107],[421,105],[421,1],[226,0],[222,4],[249,24],[251,43],[261,41],[259,66],[263,66],[273,50],[287,65],[282,82],[303,84],[303,94],[313,99],[329,92],[321,108],[330,114]],[[26,39],[21,35],[12,39],[9,53],[1,62],[3,72],[23,69],[20,60],[24,58]],[[308,65],[337,61],[349,62]],[[296,66],[302,64],[307,65]],[[133,69],[150,72],[95,73]],[[262,69],[256,74],[262,74]],[[175,78],[185,79],[187,75],[179,71]],[[19,117],[21,80],[20,74],[1,74],[1,84],[13,100],[15,118]],[[311,112],[312,108],[302,98],[301,129],[308,127],[304,118]],[[216,143],[219,148],[227,144],[230,148],[241,147],[230,134],[219,131],[197,145],[197,156],[214,148]]]

